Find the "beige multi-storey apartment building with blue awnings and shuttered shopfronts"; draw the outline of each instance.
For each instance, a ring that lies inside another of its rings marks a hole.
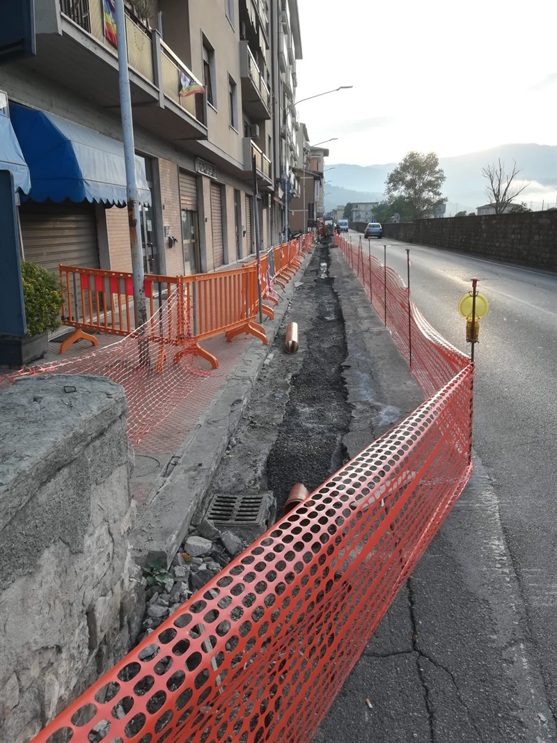
[[[255,215],[261,245],[276,244],[284,182],[298,188],[297,0],[125,10],[144,269],[189,275],[245,259]],[[34,20],[35,55],[0,66],[30,175],[23,253],[53,271],[130,270],[114,0],[39,0]]]

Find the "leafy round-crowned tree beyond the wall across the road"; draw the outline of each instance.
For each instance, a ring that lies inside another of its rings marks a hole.
[[[445,204],[441,196],[441,186],[445,173],[439,167],[439,158],[434,152],[408,152],[398,166],[391,171],[385,181],[385,194],[388,201],[403,212],[409,219],[419,219],[430,215],[435,207]],[[401,210],[401,205],[403,209]]]

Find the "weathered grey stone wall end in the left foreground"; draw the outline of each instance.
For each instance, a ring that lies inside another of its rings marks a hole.
[[[0,391],[1,741],[29,741],[140,629],[126,413],[103,377]]]

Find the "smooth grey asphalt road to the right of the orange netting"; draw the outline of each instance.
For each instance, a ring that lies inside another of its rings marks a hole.
[[[354,244],[358,233],[351,233]],[[491,566],[516,583],[524,606],[518,646],[542,687],[532,704],[557,714],[557,276],[398,241],[363,240],[363,249],[406,280],[410,248],[411,296],[437,331],[462,351],[465,321],[459,299],[471,289],[489,301],[475,349],[474,447],[477,470],[492,486],[487,510],[500,522],[500,559]],[[486,522],[489,518],[486,517]],[[480,535],[478,535],[480,536]],[[489,539],[489,533],[485,535]],[[493,539],[499,539],[494,533]],[[429,556],[431,559],[431,555]],[[489,570],[489,565],[486,565]],[[508,580],[507,580],[508,579]],[[535,667],[537,666],[537,668]],[[545,700],[541,698],[545,695]],[[539,712],[544,724],[547,711]],[[532,738],[536,740],[536,738]]]

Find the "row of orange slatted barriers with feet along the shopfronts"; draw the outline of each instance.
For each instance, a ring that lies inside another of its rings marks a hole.
[[[306,250],[309,238],[309,235],[305,236],[303,241]],[[263,299],[277,303],[273,283],[284,277],[290,279],[296,273],[301,265],[297,257],[301,246],[302,241],[291,241],[263,253],[259,276],[255,262],[241,268],[194,276],[146,275],[144,286],[149,317],[160,311],[166,298],[177,291],[176,322],[160,326],[160,334],[152,325],[151,339],[161,345],[182,345],[175,360],[183,354],[196,353],[215,368],[218,360],[199,345],[201,340],[221,333],[226,333],[227,340],[232,340],[235,335],[250,333],[267,343],[264,328],[255,322],[258,279]],[[59,273],[65,289],[62,323],[75,328],[74,334],[61,344],[60,353],[76,340],[85,339],[97,345],[98,340],[91,332],[126,336],[134,331],[131,273],[66,265],[59,266]],[[273,310],[267,305],[262,304],[261,311],[273,318]]]

